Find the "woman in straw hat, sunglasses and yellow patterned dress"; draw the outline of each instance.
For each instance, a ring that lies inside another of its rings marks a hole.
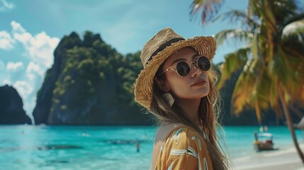
[[[170,28],[143,47],[135,101],[159,120],[150,169],[228,169],[215,130],[215,49],[212,37],[185,40]]]

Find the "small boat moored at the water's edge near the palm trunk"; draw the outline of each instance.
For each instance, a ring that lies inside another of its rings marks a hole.
[[[269,132],[254,132],[254,149],[257,152],[274,150],[274,135]],[[265,139],[265,140],[264,140]]]

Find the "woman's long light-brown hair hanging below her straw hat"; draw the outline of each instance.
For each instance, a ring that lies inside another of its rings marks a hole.
[[[162,72],[163,64],[159,67],[156,75],[159,75],[159,73]],[[201,98],[201,103],[198,109],[198,126],[191,122],[186,112],[176,103],[174,103],[171,107],[169,106],[167,101],[162,96],[164,91],[159,88],[156,79],[160,81],[166,79],[165,74],[161,74],[159,77],[155,78],[152,87],[153,97],[150,112],[157,118],[159,121],[158,123],[160,124],[164,120],[169,120],[174,123],[188,125],[189,127],[197,130],[197,132],[199,132],[203,137],[206,137],[206,146],[210,152],[210,158],[213,162],[213,169],[228,169],[229,162],[227,157],[225,157],[225,154],[223,154],[223,147],[220,145],[216,132],[216,127],[220,127],[220,124],[218,123],[218,115],[220,113],[220,102],[218,102],[218,98],[220,98],[220,95],[215,86],[216,82],[218,81],[217,72],[215,72],[213,68],[210,68],[208,71],[209,99],[207,96]]]

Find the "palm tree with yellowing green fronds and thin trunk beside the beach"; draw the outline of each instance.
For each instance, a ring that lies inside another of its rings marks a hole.
[[[204,3],[220,6],[223,1],[194,1],[192,15],[196,15],[197,7],[202,8]],[[205,23],[214,18],[217,11],[208,12],[211,15],[204,14],[202,18]],[[283,111],[295,148],[304,163],[287,107],[291,101],[304,105],[303,6],[300,8],[296,1],[289,0],[249,0],[247,13],[233,10],[215,20],[220,18],[240,21],[242,27],[217,33],[218,45],[233,39],[243,40],[247,46],[225,55],[218,86],[222,87],[233,72],[241,69],[232,94],[235,113],[252,107],[260,121],[261,111],[265,108],[274,108],[277,113]]]

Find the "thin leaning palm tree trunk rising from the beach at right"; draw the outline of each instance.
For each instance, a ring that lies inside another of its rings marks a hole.
[[[278,90],[278,95],[280,96],[280,101],[282,103],[282,107],[283,107],[284,115],[286,117],[286,121],[287,121],[287,124],[288,124],[289,131],[291,131],[291,136],[293,137],[293,144],[295,145],[295,149],[297,149],[297,152],[298,152],[298,154],[299,154],[299,156],[302,159],[302,162],[304,164],[304,155],[303,155],[303,152],[300,150],[300,147],[298,145],[298,140],[297,140],[297,137],[295,136],[295,129],[293,128],[293,120],[291,118],[291,114],[289,113],[289,111],[287,109],[287,104],[286,104],[285,99],[283,98],[282,90]]]

